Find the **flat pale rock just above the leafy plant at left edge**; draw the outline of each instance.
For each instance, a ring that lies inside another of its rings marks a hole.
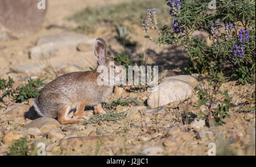
[[[46,68],[47,65],[45,63],[42,64],[38,64],[38,65],[17,65],[17,66],[11,66],[10,70],[12,72],[16,72],[16,73],[26,73],[26,74],[30,74],[30,73],[39,73],[42,72],[44,68]]]

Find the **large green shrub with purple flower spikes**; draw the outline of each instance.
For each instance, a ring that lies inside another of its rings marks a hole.
[[[229,71],[239,82],[254,83],[255,1],[216,1],[216,14],[209,10],[210,1],[180,1],[177,6],[175,2],[168,1],[174,27],[161,28],[156,44],[183,46],[189,57],[186,69],[191,73],[220,72],[221,63],[230,62],[234,70]],[[222,25],[217,19],[224,22],[225,33],[218,30]],[[205,45],[207,37],[200,40],[192,36],[195,31],[208,32],[212,45]]]

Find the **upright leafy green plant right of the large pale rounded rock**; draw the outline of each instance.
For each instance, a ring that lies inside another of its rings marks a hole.
[[[198,91],[197,95],[199,96],[199,104],[197,107],[200,108],[201,105],[204,105],[208,108],[208,114],[200,112],[199,115],[201,118],[207,119],[209,125],[212,120],[216,122],[217,125],[222,125],[222,119],[224,117],[230,117],[228,111],[234,106],[228,95],[228,91],[220,91],[222,83],[225,83],[225,77],[222,72],[212,72],[212,75],[209,77],[209,87],[203,89],[196,88]],[[223,100],[217,98],[218,95],[222,95]],[[218,105],[216,109],[213,109],[213,105],[218,103],[220,103],[220,105]]]

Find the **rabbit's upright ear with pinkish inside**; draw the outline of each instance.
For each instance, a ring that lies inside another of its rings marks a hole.
[[[94,55],[98,65],[105,65],[106,62],[106,43],[102,38],[97,38],[94,44]]]

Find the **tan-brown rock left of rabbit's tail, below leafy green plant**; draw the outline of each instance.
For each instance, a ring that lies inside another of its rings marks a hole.
[[[14,117],[14,118],[25,118],[26,112],[28,112],[28,110],[30,109],[29,105],[26,104],[14,104],[11,105],[9,107],[7,107],[7,109],[5,110],[5,112],[3,113],[4,115],[6,115],[7,117]]]

